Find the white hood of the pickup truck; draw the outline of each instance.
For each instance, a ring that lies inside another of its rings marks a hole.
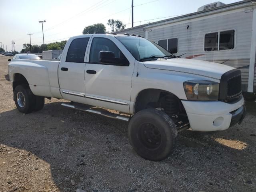
[[[182,58],[146,61],[144,65],[152,69],[184,72],[215,79],[220,79],[222,74],[234,69],[233,67],[214,62]]]

